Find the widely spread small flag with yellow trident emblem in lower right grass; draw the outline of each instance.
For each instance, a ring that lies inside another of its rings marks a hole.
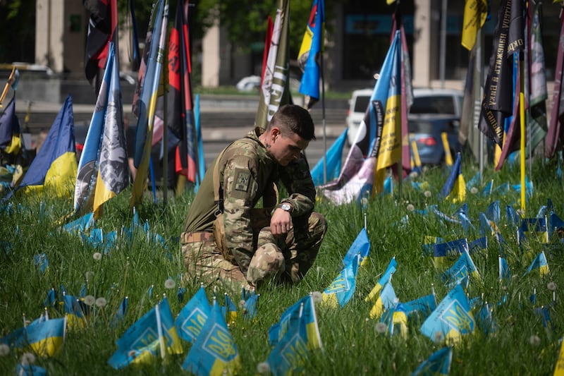
[[[462,335],[473,333],[475,326],[468,298],[462,285],[457,284],[427,317],[420,330],[433,341],[444,339],[455,344]]]

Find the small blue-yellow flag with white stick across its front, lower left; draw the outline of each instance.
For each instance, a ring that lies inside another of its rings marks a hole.
[[[116,370],[130,363],[149,363],[153,358],[164,358],[165,353],[182,353],[166,297],[131,325],[116,344],[118,349],[108,360]]]

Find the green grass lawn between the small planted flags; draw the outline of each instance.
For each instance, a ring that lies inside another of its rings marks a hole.
[[[477,167],[465,162],[463,173],[469,181]],[[556,178],[555,164],[534,165],[532,181],[534,193],[526,207],[526,217],[535,217],[541,205],[548,198],[553,200],[554,210],[564,215],[564,195],[562,183]],[[462,227],[444,224],[436,217],[423,216],[408,210],[408,205],[424,209],[427,205],[438,204],[439,210],[452,214],[459,205],[439,200],[438,193],[446,171],[432,168],[417,176],[415,181],[430,184],[431,197],[412,188],[409,182],[403,184],[401,196],[398,186],[394,195],[370,200],[365,208],[355,204],[331,205],[321,200],[317,211],[323,213],[329,222],[319,256],[305,279],[297,286],[266,285],[259,291],[259,308],[255,322],[243,319],[231,326],[231,333],[238,347],[243,363],[243,375],[255,375],[259,362],[269,356],[268,329],[278,321],[288,306],[298,301],[310,291],[323,291],[341,270],[343,255],[355,240],[364,225],[366,214],[367,230],[372,244],[367,265],[359,269],[357,286],[353,299],[341,309],[328,309],[317,305],[319,330],[324,351],[311,351],[305,365],[307,375],[409,375],[422,360],[441,348],[419,332],[421,322],[412,321],[409,334],[385,336],[376,332],[375,320],[370,320],[371,304],[364,301],[389,260],[394,255],[398,270],[392,283],[400,301],[410,301],[436,290],[437,300],[446,296],[448,289],[441,282],[440,272],[434,269],[430,257],[422,256],[424,236],[442,236],[445,241],[462,238]],[[550,274],[541,279],[538,274],[525,273],[532,257],[543,246],[531,243],[530,255],[519,250],[515,231],[505,220],[505,205],[517,210],[520,195],[511,189],[482,194],[487,181],[494,179],[494,186],[502,183],[518,184],[519,171],[504,167],[501,172],[485,171],[483,185],[478,184],[479,193],[467,193],[468,216],[476,227],[467,238],[471,241],[479,237],[479,212],[485,212],[488,205],[499,200],[502,215],[500,229],[508,242],[508,262],[513,279],[498,281],[498,245],[489,237],[486,252],[474,255],[482,281],[472,282],[467,290],[472,298],[484,294],[484,300],[493,306],[493,316],[498,329],[489,336],[479,329],[464,337],[453,349],[451,375],[548,375],[552,374],[560,345],[558,340],[564,328],[561,314],[563,298],[560,292],[564,286],[563,245],[560,243],[546,252]],[[132,216],[128,211],[129,191],[119,195],[105,205],[104,217],[97,226],[104,232],[121,231],[123,225],[129,226]],[[53,358],[39,358],[37,365],[46,368],[48,375],[152,375],[163,373],[177,375],[183,373],[183,360],[190,344],[183,342],[183,354],[168,358],[166,363],[155,360],[151,365],[136,367],[130,365],[123,370],[113,370],[107,360],[116,350],[116,340],[143,314],[150,310],[166,293],[173,315],[176,315],[188,299],[197,291],[199,284],[188,278],[180,280],[184,274],[178,236],[183,230],[185,214],[193,199],[192,193],[180,198],[169,198],[166,207],[159,203],[152,205],[149,196],[140,209],[140,218],[149,221],[151,231],[161,234],[167,248],[147,241],[137,234],[132,243],[118,237],[116,246],[109,250],[102,260],[94,260],[99,250],[82,244],[79,236],[61,231],[58,220],[71,210],[68,200],[54,200],[42,196],[12,202],[11,210],[0,213],[0,335],[8,334],[23,325],[25,314],[34,320],[44,312],[44,298],[51,289],[59,290],[64,285],[73,295],[78,295],[82,284],[86,283],[87,294],[107,299],[104,308],[97,308],[88,320],[86,327],[71,329],[68,332],[61,352]],[[39,211],[40,202],[45,202],[44,214]],[[18,206],[21,204],[21,207]],[[407,224],[400,221],[408,215]],[[34,265],[33,257],[45,253],[49,260],[48,272],[43,274]],[[531,256],[532,255],[532,256]],[[182,303],[176,297],[176,289],[166,290],[164,282],[168,277],[175,279],[177,286],[185,287]],[[548,282],[556,283],[556,304],[550,313],[554,331],[547,331],[541,318],[534,314],[533,308],[548,305],[552,301],[552,291]],[[154,285],[152,296],[147,293]],[[537,305],[529,302],[533,289],[537,289]],[[212,297],[213,290],[207,289]],[[221,288],[217,293],[223,293]],[[497,305],[506,295],[507,301]],[[117,327],[111,326],[111,317],[124,296],[129,298],[129,310],[125,320]],[[221,296],[221,295],[220,295]],[[239,296],[232,296],[238,302]],[[49,308],[50,317],[61,317],[60,308]],[[532,336],[538,336],[540,344],[529,343]],[[0,357],[0,373],[15,372],[21,353],[12,351]],[[185,373],[185,372],[184,372]]]

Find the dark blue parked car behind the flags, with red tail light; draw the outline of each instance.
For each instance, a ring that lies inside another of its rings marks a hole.
[[[462,147],[458,142],[460,118],[452,115],[421,115],[407,121],[410,143],[415,141],[421,164],[442,164],[446,150],[455,157]],[[442,133],[446,134],[448,147],[443,144]],[[413,150],[412,150],[413,152]]]

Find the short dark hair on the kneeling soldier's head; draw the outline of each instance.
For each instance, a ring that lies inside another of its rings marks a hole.
[[[312,116],[307,109],[295,104],[285,104],[272,116],[268,129],[277,126],[281,131],[289,131],[304,140],[315,140]]]

